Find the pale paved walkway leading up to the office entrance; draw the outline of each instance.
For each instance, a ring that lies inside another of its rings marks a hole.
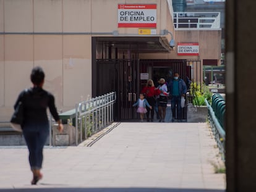
[[[92,147],[46,148],[37,186],[27,149],[0,148],[0,191],[220,192],[215,146],[206,123],[121,123]]]

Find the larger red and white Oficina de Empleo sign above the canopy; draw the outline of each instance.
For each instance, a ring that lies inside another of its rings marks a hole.
[[[156,28],[156,4],[119,4],[118,27]]]

